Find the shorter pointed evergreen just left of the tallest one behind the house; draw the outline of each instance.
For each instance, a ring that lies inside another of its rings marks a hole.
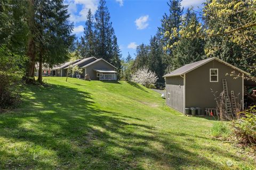
[[[81,49],[79,49],[83,58],[96,57],[96,44],[95,44],[95,29],[93,22],[93,15],[91,9],[87,14],[87,21],[84,27],[84,36],[81,37]]]

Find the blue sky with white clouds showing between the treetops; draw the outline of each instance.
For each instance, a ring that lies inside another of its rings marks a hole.
[[[164,13],[168,13],[169,0],[107,0],[107,7],[110,13],[110,21],[115,30],[118,45],[121,49],[122,58],[128,52],[134,58],[136,47],[142,43],[149,44],[149,39],[161,26],[161,19]],[[65,0],[68,4],[70,22],[74,22],[73,33],[77,38],[82,36],[86,15],[91,8],[94,14],[97,11],[98,0]],[[204,0],[183,0],[181,5],[184,11],[194,6],[202,8]]]

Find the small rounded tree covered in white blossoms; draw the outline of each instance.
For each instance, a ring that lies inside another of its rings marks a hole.
[[[148,88],[150,84],[155,84],[157,79],[155,72],[150,71],[148,67],[143,67],[132,74],[131,81],[142,84]]]

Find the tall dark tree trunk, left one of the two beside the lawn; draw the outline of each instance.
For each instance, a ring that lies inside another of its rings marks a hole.
[[[26,83],[35,83],[34,71],[35,71],[35,8],[34,8],[34,0],[28,0],[28,25],[30,30],[30,37],[28,40],[28,57],[29,61],[27,64],[27,70],[25,75]]]

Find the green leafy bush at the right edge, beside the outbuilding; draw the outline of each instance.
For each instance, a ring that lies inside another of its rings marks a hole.
[[[239,113],[239,119],[233,123],[239,142],[256,145],[256,106]]]

